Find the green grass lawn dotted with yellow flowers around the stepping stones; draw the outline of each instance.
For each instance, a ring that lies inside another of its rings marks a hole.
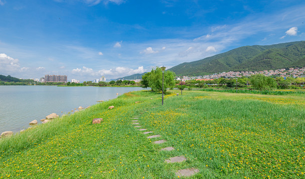
[[[178,92],[163,106],[160,93],[129,92],[4,138],[0,178],[173,179],[186,168],[199,169],[197,179],[304,178],[305,96]],[[135,130],[139,114],[161,138]],[[182,155],[186,162],[164,162]]]

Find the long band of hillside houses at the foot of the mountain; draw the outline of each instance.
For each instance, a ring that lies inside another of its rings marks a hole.
[[[305,77],[305,67],[303,68],[289,68],[289,69],[278,69],[278,70],[264,70],[259,72],[222,72],[222,73],[215,73],[213,75],[206,75],[206,76],[197,76],[197,77],[186,77],[183,76],[181,79],[182,81],[187,80],[210,80],[210,79],[219,79],[219,78],[241,78],[241,77],[250,77],[256,74],[263,74],[265,76],[279,76],[279,77]],[[177,77],[178,78],[178,77]]]

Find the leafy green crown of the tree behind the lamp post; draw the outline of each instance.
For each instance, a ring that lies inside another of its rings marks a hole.
[[[171,71],[164,72],[164,91],[167,88],[173,88],[175,86],[174,77],[176,74]],[[152,91],[162,90],[162,71],[159,67],[152,69],[151,72],[142,76],[142,87],[150,87]]]

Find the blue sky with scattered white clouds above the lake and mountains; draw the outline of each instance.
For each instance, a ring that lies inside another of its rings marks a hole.
[[[305,40],[304,0],[0,0],[0,74],[115,79]]]

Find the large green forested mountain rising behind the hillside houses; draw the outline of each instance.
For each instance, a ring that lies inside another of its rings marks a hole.
[[[177,75],[207,75],[228,71],[262,71],[305,67],[305,41],[244,46],[169,69]]]

